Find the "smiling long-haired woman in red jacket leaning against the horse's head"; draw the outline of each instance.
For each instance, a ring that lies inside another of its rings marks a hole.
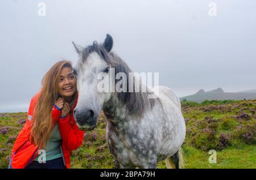
[[[30,102],[9,168],[69,168],[71,152],[84,138],[73,118],[77,98],[71,62],[57,62],[44,75],[42,88]]]

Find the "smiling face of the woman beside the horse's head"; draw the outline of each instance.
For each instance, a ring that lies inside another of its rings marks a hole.
[[[64,67],[61,70],[59,81],[59,93],[63,97],[71,97],[76,92],[76,77],[72,72],[72,68]]]

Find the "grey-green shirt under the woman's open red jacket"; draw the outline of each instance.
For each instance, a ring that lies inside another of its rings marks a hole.
[[[60,146],[61,135],[59,131],[59,126],[56,123],[56,125],[52,129],[49,140],[46,142],[46,145],[42,148],[46,151],[46,161],[53,160],[58,157],[63,157]],[[39,154],[34,161],[38,161],[40,155],[42,154]]]

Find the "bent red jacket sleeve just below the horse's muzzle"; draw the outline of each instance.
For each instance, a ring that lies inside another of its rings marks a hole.
[[[72,114],[68,114],[66,117],[59,119],[59,130],[63,140],[63,144],[69,150],[75,150],[82,145],[84,139],[84,131],[80,131],[76,125],[75,120],[72,118]]]

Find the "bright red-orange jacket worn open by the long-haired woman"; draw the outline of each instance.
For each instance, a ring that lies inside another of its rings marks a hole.
[[[40,92],[31,99],[30,107],[27,113],[27,121],[18,137],[15,140],[13,151],[11,152],[11,161],[9,168],[26,168],[35,158],[38,156],[38,147],[30,143],[29,135],[31,132],[31,118],[33,116],[34,108]],[[70,166],[70,156],[74,149],[77,149],[84,139],[84,131],[80,131],[76,125],[73,117],[73,109],[76,107],[78,100],[78,93],[75,103],[71,109],[71,114],[68,114],[65,118],[61,118],[61,110],[58,110],[53,106],[52,119],[59,125],[59,131],[62,138],[61,151],[64,156],[64,164],[68,169]]]

